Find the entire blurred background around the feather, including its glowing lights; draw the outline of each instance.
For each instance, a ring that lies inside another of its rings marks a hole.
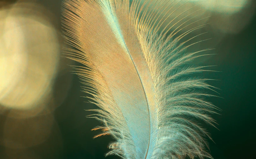
[[[69,66],[80,64],[62,54],[69,46],[62,38],[61,3],[0,1],[0,159],[100,159],[108,152],[112,138],[93,139],[99,132],[91,129],[100,123],[86,118],[92,112],[85,109],[96,106],[85,103],[89,95],[80,91],[82,84]],[[209,141],[211,154],[215,159],[254,159],[256,1],[191,0],[167,22],[196,4],[189,13],[201,9],[200,17],[206,18],[199,24],[209,23],[197,34],[208,32],[201,38],[212,39],[192,49],[210,46],[217,55],[195,63],[222,71],[203,74],[219,79],[211,84],[223,97],[209,99],[222,109],[213,116],[219,130],[206,126],[215,142]]]

